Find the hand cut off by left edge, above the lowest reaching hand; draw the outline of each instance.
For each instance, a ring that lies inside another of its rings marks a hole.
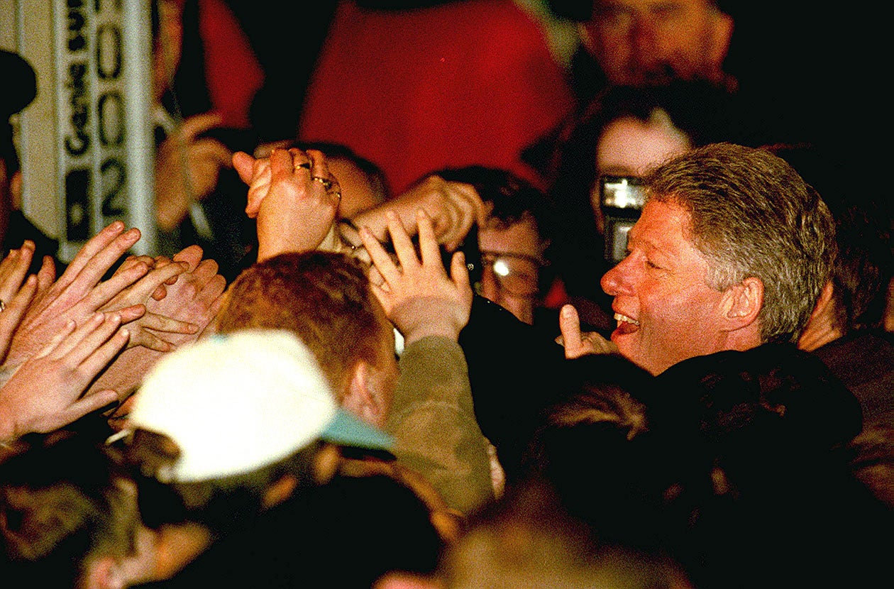
[[[37,276],[22,284],[34,257],[34,242],[25,241],[0,262],[0,362],[13,340],[13,333],[38,290]]]

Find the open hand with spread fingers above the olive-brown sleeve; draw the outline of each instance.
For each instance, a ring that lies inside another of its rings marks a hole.
[[[456,340],[468,323],[472,307],[466,260],[462,252],[453,254],[448,278],[432,220],[425,211],[418,211],[417,226],[421,262],[401,219],[393,212],[388,215],[388,232],[400,267],[367,228],[361,229],[360,237],[384,279],[381,285],[371,284],[371,288],[407,344],[426,335]]]

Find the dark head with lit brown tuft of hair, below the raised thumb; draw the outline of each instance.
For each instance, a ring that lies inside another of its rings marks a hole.
[[[527,448],[527,476],[550,484],[603,541],[651,548],[660,468],[641,400],[654,377],[615,355],[570,360],[569,371],[580,384],[545,409]]]

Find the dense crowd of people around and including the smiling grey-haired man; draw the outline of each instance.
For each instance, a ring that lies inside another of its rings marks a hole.
[[[269,109],[171,112],[218,3],[153,4],[161,250],[115,222],[56,259],[0,132],[0,579],[886,577],[889,198],[763,129],[735,11],[326,4],[276,137]],[[533,13],[575,22],[569,63]],[[0,57],[8,118],[36,78]]]

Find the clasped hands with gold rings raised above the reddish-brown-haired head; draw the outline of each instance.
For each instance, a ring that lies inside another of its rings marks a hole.
[[[337,251],[335,214],[342,199],[325,156],[316,149],[274,149],[268,158],[232,158],[249,184],[249,218],[257,218],[257,259],[316,248]]]

